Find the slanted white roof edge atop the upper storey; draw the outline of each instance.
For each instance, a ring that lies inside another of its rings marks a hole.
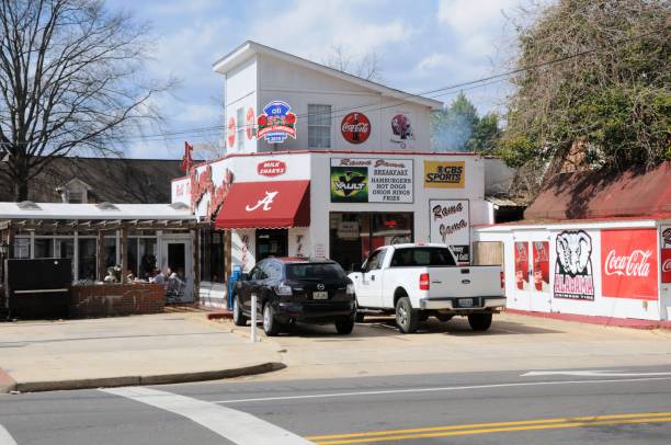
[[[221,75],[226,75],[232,67],[239,65],[241,61],[247,60],[254,54],[263,54],[271,57],[278,58],[281,60],[285,60],[292,64],[299,65],[304,68],[312,69],[315,71],[319,71],[327,76],[331,76],[338,78],[340,80],[344,80],[350,83],[357,84],[362,88],[367,88],[369,90],[376,91],[378,93],[388,95],[394,99],[402,100],[403,102],[412,102],[423,106],[428,106],[431,110],[442,110],[443,102],[436,101],[433,99],[423,98],[421,95],[408,93],[395,88],[385,87],[380,83],[373,82],[371,80],[362,79],[360,77],[350,75],[344,71],[340,71],[334,68],[327,67],[321,64],[317,64],[315,61],[305,59],[303,57],[295,56],[289,53],[282,52],[280,49],[271,48],[270,46],[262,45],[257,42],[247,41],[227,55],[220,57],[213,64],[213,70],[215,72],[219,72]]]

